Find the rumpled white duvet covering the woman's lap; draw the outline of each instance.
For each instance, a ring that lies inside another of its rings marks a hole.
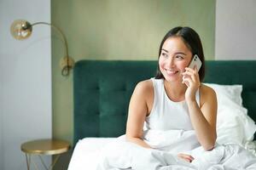
[[[176,132],[175,132],[176,133]],[[164,135],[161,133],[161,135]],[[166,134],[170,135],[170,132]],[[189,137],[190,138],[190,137]],[[175,141],[176,142],[176,141]],[[160,144],[160,143],[159,143]],[[172,145],[165,144],[160,145]],[[185,153],[195,158],[183,161],[175,151],[146,149],[123,139],[108,144],[102,150],[97,170],[235,170],[256,169],[256,157],[238,144],[216,145],[211,151],[201,146]]]

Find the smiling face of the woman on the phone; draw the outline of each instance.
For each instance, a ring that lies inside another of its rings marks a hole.
[[[181,37],[169,37],[161,48],[160,71],[168,82],[182,82],[185,67],[189,65],[192,53]]]

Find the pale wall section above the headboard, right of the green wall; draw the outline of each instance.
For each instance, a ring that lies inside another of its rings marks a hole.
[[[215,59],[256,59],[256,1],[216,0]]]

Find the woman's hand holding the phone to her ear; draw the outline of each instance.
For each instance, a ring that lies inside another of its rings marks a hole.
[[[201,85],[196,66],[194,69],[185,68],[185,72],[183,72],[183,83],[188,87],[185,93],[186,101],[195,101],[195,92]]]

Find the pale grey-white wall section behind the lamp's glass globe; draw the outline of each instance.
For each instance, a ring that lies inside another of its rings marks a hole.
[[[9,33],[17,19],[50,22],[50,0],[0,0],[1,170],[25,170],[20,144],[52,135],[50,28],[17,41]]]

